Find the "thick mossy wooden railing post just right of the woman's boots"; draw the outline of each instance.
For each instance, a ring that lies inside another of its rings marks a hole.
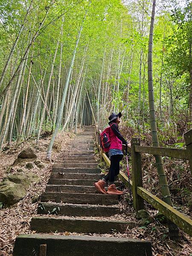
[[[133,207],[135,210],[144,209],[144,201],[137,194],[137,187],[143,187],[141,154],[135,152],[135,145],[140,145],[140,138],[131,139],[131,162],[132,162],[132,192],[133,192]]]

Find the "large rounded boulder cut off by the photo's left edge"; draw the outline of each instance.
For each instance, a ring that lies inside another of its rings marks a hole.
[[[0,183],[0,202],[12,205],[20,201],[26,194],[23,185],[5,180]]]

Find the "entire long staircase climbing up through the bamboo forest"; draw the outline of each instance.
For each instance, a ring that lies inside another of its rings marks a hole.
[[[152,256],[148,241],[86,236],[124,232],[136,225],[113,220],[113,215],[120,214],[119,196],[99,194],[93,186],[102,177],[94,159],[93,140],[94,128],[85,127],[71,147],[58,155],[38,205],[39,216],[31,220],[30,228],[37,233],[17,236],[14,256]],[[55,212],[57,215],[50,214]],[[46,234],[66,231],[84,235]]]

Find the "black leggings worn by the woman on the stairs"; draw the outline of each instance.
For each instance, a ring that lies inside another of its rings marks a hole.
[[[115,176],[119,174],[120,166],[119,162],[122,160],[123,155],[113,155],[111,156],[111,165],[109,168],[109,173],[105,175],[104,179],[109,182],[114,182]]]

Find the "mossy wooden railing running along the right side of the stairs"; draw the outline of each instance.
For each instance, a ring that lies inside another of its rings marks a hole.
[[[96,145],[100,153],[100,161],[105,161],[106,164],[110,166],[110,160],[99,145],[99,135],[101,132],[102,131],[96,124]],[[133,207],[135,210],[138,211],[140,209],[144,209],[145,200],[180,227],[181,230],[189,234],[189,236],[192,236],[192,219],[177,211],[169,204],[166,204],[163,200],[153,195],[147,189],[144,189],[142,176],[141,153],[189,160],[190,171],[192,174],[192,129],[184,134],[184,139],[186,149],[141,146],[139,138],[132,138],[131,147],[128,147],[128,152],[131,153],[132,166],[131,189],[133,193]],[[119,178],[125,183],[125,186],[128,187],[128,177],[121,171],[119,173]],[[192,182],[192,180],[189,180],[189,182]]]

